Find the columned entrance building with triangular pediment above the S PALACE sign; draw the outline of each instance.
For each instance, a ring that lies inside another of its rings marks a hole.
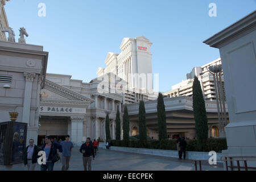
[[[86,137],[105,140],[106,114],[114,139],[117,110],[122,121],[123,93],[104,93],[100,84],[98,78],[85,83],[70,75],[47,73],[46,86],[41,91],[39,142],[46,135],[65,139],[67,134],[78,146]]]

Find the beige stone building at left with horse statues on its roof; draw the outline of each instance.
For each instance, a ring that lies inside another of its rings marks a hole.
[[[0,122],[27,123],[27,143],[37,142],[40,90],[44,86],[48,52],[42,46],[0,41]]]

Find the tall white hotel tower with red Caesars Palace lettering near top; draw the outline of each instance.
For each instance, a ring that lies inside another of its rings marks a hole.
[[[127,81],[128,89],[152,89],[151,45],[144,36],[123,38],[120,46],[122,52],[109,52],[105,60],[106,68],[98,68],[97,75],[112,72]],[[146,83],[140,80],[143,75],[147,78]]]

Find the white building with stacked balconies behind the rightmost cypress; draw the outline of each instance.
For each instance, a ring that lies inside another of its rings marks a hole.
[[[203,65],[202,67],[195,67],[192,69],[190,73],[187,74],[187,80],[183,80],[179,84],[172,86],[172,89],[168,92],[163,93],[168,97],[179,97],[179,96],[189,96],[191,97],[193,94],[192,86],[194,77],[197,76],[201,89],[203,91],[203,95],[205,100],[214,101],[216,100],[216,90],[214,88],[214,80],[213,75],[207,69],[210,65],[218,65],[221,64],[221,59],[218,58],[208,64]],[[224,78],[222,74],[222,85],[224,86]],[[224,87],[223,87],[224,88]],[[225,98],[225,90],[224,90],[224,98]]]

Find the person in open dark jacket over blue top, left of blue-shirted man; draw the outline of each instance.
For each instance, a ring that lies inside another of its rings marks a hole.
[[[41,171],[53,171],[54,163],[60,159],[57,149],[62,152],[62,147],[57,142],[51,142],[51,137],[46,137],[46,143],[42,146],[42,151],[46,152],[46,164],[41,164]]]

